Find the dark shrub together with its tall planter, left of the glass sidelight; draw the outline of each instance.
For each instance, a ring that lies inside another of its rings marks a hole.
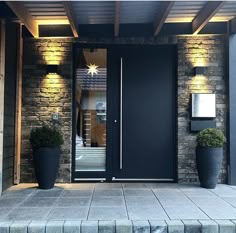
[[[54,187],[59,167],[61,133],[56,128],[43,126],[30,133],[36,179],[41,189]]]

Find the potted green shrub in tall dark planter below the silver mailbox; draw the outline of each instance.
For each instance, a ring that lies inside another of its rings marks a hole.
[[[204,188],[216,187],[225,142],[226,138],[219,129],[204,129],[197,135],[197,170],[200,184]]]

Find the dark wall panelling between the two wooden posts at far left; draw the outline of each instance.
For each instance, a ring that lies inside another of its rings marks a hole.
[[[6,23],[2,188],[14,182],[18,24]]]

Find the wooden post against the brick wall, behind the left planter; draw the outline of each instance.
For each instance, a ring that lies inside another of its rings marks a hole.
[[[17,38],[17,79],[16,79],[16,119],[15,119],[15,164],[14,184],[20,183],[20,157],[21,157],[21,106],[22,106],[22,59],[23,39],[22,25],[18,25]]]

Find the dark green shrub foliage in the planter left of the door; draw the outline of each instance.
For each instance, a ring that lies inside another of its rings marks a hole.
[[[60,147],[64,142],[56,128],[43,126],[31,130],[30,143],[33,149],[40,147]]]

